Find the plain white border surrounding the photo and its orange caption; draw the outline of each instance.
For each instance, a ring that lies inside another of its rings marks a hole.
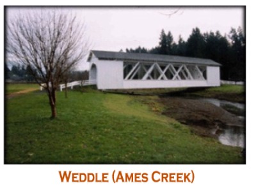
[[[1,1],[4,5],[20,5],[21,1]],[[207,4],[206,4],[207,2]],[[61,5],[81,5],[83,1],[61,1]],[[255,4],[253,1],[86,1],[84,5],[246,5],[246,164],[244,165],[4,165],[3,164],[3,132],[4,108],[1,109],[1,141],[0,163],[1,189],[4,191],[244,191],[252,189],[254,184],[253,170],[255,170]],[[58,1],[22,1],[22,5],[58,5]],[[3,15],[4,7],[0,8]],[[2,17],[3,18],[3,17]],[[3,19],[1,19],[0,47],[3,75]],[[254,46],[253,46],[254,45]],[[3,76],[0,78],[3,87]],[[1,106],[4,106],[4,92],[1,89]],[[71,170],[73,172],[108,172],[113,170],[122,172],[146,172],[148,174],[158,170],[160,172],[195,172],[195,182],[190,183],[61,183],[58,171]]]

